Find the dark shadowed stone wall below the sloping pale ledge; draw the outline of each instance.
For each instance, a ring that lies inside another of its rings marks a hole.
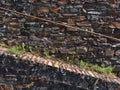
[[[119,86],[119,82],[113,82],[117,81],[115,78],[110,81],[102,75],[94,76],[94,73],[83,70],[79,71],[83,74],[73,73],[68,65],[61,64],[66,70],[59,63],[51,67],[52,62],[48,63],[43,58],[40,60],[43,63],[35,63],[35,57],[32,58],[34,60],[25,57],[21,60],[0,54],[0,90],[116,90]]]

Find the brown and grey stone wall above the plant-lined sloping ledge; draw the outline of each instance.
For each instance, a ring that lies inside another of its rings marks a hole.
[[[0,6],[120,38],[120,6],[114,0],[1,0]],[[119,42],[81,30],[0,11],[0,40],[9,46],[24,42],[38,52],[120,71]]]

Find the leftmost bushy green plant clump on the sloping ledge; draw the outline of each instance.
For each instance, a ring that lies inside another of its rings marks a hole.
[[[26,51],[25,51],[25,48],[23,46],[16,45],[16,46],[10,47],[9,52],[13,53],[13,54],[23,54]]]

